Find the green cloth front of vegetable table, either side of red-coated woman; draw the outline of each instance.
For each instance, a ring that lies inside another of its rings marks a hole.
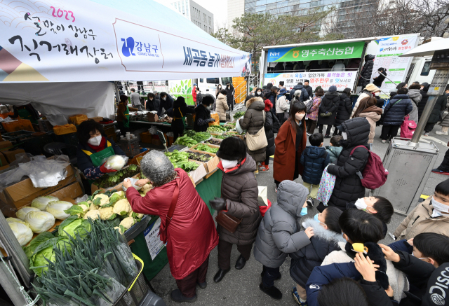
[[[206,202],[206,205],[208,205],[210,214],[213,214],[215,210],[209,206],[209,200],[212,200],[214,197],[221,196],[221,186],[222,172],[220,170],[217,170],[214,174],[212,174],[212,176],[210,176],[208,179],[204,179],[196,186],[196,191],[199,193],[201,199]],[[152,228],[154,223],[156,223],[158,219],[159,216],[152,216],[147,228]],[[159,232],[159,229],[155,230],[156,232]],[[148,251],[144,232],[145,231],[140,232],[140,234],[134,238],[135,242],[133,244],[130,244],[130,247],[133,253],[135,253],[135,255],[137,255],[144,261],[145,265],[143,268],[143,272],[145,274],[145,277],[147,277],[147,279],[150,281],[168,263],[167,249],[166,247],[163,247],[163,249],[156,255],[156,257],[154,257],[154,260],[152,260],[152,257],[150,256]]]

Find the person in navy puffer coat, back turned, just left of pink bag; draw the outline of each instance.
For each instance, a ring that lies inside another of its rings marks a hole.
[[[397,95],[390,99],[389,104],[385,106],[381,134],[382,143],[385,143],[387,139],[396,137],[399,127],[404,121],[404,116],[413,110],[412,100],[407,93],[407,88],[399,88]]]

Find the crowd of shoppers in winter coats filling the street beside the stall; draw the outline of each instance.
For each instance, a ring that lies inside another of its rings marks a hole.
[[[349,89],[341,95],[333,86],[326,94],[322,88],[309,93],[307,85],[298,84],[293,95],[287,95],[282,85],[269,84],[256,88],[255,95],[246,99],[247,110],[239,120],[247,131],[246,140],[223,139],[217,151],[221,197],[208,203],[217,211],[216,228],[189,176],[174,169],[163,153],[150,151],[142,159],[147,179],[136,185],[151,182],[154,186],[145,197],[130,181],[124,182],[133,211],[161,216],[170,271],[177,284],[171,298],[196,300],[196,285],[207,286],[208,260],[215,246],[218,271],[213,281],[222,281],[231,270],[235,244],[239,251],[236,270],[245,267],[253,251],[261,263],[259,288],[276,300],[282,292],[275,281],[290,256],[291,294],[298,305],[445,305],[449,180],[417,204],[398,225],[395,242],[389,245],[379,242],[387,235],[394,207],[387,198],[366,197],[361,181],[376,125],[383,124],[382,140],[395,137],[404,116],[413,116],[413,104],[419,120],[420,103],[426,96],[421,91],[425,93],[428,85],[398,86],[389,102],[381,105],[376,95],[379,88],[368,83],[354,108]],[[178,97],[174,109],[184,114],[188,110],[181,102]],[[213,103],[213,98],[203,97],[196,106],[195,130],[207,129],[213,120]],[[226,92],[218,91],[215,108],[220,120],[226,106]],[[317,125],[319,132],[315,132]],[[326,134],[321,133],[323,125],[328,126]],[[329,127],[335,127],[332,137]],[[324,138],[330,138],[329,146],[323,146]],[[277,200],[265,211],[258,204],[255,172],[269,169],[273,153]],[[323,173],[335,176],[333,188],[323,186]],[[300,176],[302,183],[296,183]],[[311,207],[319,211],[314,218],[307,217]]]

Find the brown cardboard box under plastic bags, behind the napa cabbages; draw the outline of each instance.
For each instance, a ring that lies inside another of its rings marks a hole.
[[[62,181],[59,181],[58,185],[48,188],[36,188],[33,186],[31,179],[25,179],[12,186],[6,187],[0,192],[0,206],[3,204],[6,209],[2,209],[6,216],[15,216],[15,209],[24,207],[27,204],[31,204],[32,200],[36,197],[42,197],[44,195],[52,195],[61,188],[74,183],[79,179],[74,167],[72,165],[67,166],[67,176]],[[55,195],[58,197],[58,195]],[[60,195],[62,197],[62,195]],[[67,196],[65,196],[67,197]]]

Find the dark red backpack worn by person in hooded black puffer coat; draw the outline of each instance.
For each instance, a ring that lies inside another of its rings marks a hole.
[[[356,148],[366,148],[366,146],[356,146],[352,149],[351,154],[354,153]],[[383,186],[387,181],[388,170],[384,168],[384,164],[382,160],[380,160],[379,155],[373,153],[368,150],[370,155],[368,156],[368,162],[366,162],[365,169],[363,169],[363,173],[357,172],[358,176],[360,176],[362,186],[368,189],[376,189],[380,186]]]

